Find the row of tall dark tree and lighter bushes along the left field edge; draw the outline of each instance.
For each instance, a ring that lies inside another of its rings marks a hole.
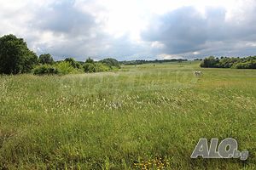
[[[27,48],[22,38],[12,34],[0,37],[0,74],[68,74],[113,71],[119,68],[119,61],[112,58],[100,61],[89,58],[83,62],[73,58],[55,61],[50,54],[41,54],[38,57]]]

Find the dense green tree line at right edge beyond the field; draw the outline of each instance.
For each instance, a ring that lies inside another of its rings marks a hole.
[[[218,57],[210,56],[201,60],[201,67],[205,68],[236,68],[256,69],[256,56],[240,57]]]

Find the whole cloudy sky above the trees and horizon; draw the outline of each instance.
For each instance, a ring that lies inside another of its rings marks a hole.
[[[256,54],[256,0],[0,0],[0,36],[84,61]]]

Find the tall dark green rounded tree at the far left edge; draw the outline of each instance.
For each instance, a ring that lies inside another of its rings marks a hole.
[[[14,35],[0,37],[0,74],[30,72],[38,56],[29,50],[22,38]]]

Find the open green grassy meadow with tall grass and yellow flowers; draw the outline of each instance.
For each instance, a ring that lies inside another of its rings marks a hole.
[[[256,169],[256,70],[198,65],[0,77],[0,169]],[[191,159],[201,138],[248,159]]]

